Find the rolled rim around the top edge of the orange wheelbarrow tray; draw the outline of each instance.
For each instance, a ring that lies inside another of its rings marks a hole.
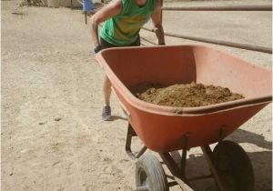
[[[190,46],[190,45],[166,45],[166,46],[174,46],[175,47],[175,46]],[[215,48],[207,46],[207,45],[195,45],[195,46],[209,47],[209,48],[215,49]],[[124,85],[118,79],[118,77],[111,70],[110,66],[106,64],[106,60],[102,56],[102,54],[105,51],[108,51],[110,49],[125,49],[125,48],[151,48],[151,47],[107,48],[106,50],[102,50],[100,53],[96,54],[96,60],[98,61],[99,65],[105,70],[106,75],[109,78],[109,80],[111,81],[111,83],[115,84],[113,86],[114,90],[116,89],[116,87],[122,89],[123,91],[119,91],[118,93],[120,95],[123,95],[123,98],[126,100],[126,102],[128,104],[130,104],[131,106],[135,106],[138,109],[145,109],[145,110],[147,110],[147,112],[157,113],[157,114],[166,115],[166,116],[191,116],[191,115],[206,115],[206,114],[221,112],[223,110],[231,110],[231,109],[235,109],[238,107],[263,105],[263,104],[268,104],[268,103],[272,102],[272,95],[263,95],[263,96],[257,96],[257,97],[243,98],[243,99],[234,100],[234,101],[228,101],[228,102],[219,103],[219,104],[215,104],[215,105],[198,106],[198,107],[158,106],[155,104],[147,103],[145,101],[142,101],[142,100],[136,98],[136,96],[133,95],[126,88],[126,85]],[[159,48],[162,48],[162,46],[160,46]],[[223,52],[223,51],[220,51],[220,52]],[[234,55],[231,55],[228,53],[225,53],[225,54],[230,55],[232,57],[237,57],[237,56],[234,56]],[[260,66],[256,66],[256,67],[263,68]],[[263,68],[263,69],[268,70],[267,68]]]

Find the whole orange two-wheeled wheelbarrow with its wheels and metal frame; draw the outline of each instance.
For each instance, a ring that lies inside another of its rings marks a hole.
[[[197,146],[219,190],[254,190],[246,152],[224,138],[271,102],[271,70],[204,45],[109,48],[96,59],[128,117],[126,152],[136,159],[136,190],[167,191],[174,185],[192,190],[191,181],[203,178],[185,175],[187,151]],[[227,87],[245,98],[211,106],[172,107],[141,101],[130,91],[141,83],[191,82]],[[133,136],[144,144],[136,154],[131,151]],[[215,143],[212,150],[209,145]],[[147,148],[159,154],[172,181],[157,157],[145,153]],[[177,162],[178,150],[182,154]]]

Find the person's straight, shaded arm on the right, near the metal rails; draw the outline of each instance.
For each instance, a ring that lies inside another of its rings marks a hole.
[[[161,23],[161,1],[157,0],[155,13],[151,16],[154,25],[154,31],[158,38],[158,45],[165,45],[164,30]]]

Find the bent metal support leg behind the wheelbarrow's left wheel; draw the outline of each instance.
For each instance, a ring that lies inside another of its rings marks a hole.
[[[130,123],[128,123],[128,129],[127,129],[127,136],[126,136],[126,153],[130,158],[135,160],[136,158],[139,158],[142,156],[145,151],[147,150],[147,146],[143,146],[140,151],[134,155],[131,149],[131,143],[132,143],[132,137],[136,136],[136,132],[134,131],[133,127],[131,126]]]

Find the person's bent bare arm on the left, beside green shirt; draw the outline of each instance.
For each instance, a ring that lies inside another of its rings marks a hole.
[[[122,10],[121,0],[112,0],[108,5],[104,6],[95,15],[92,15],[89,22],[89,27],[95,45],[95,50],[99,50],[98,25],[105,22],[106,19],[119,15]],[[96,52],[96,51],[95,51]]]

